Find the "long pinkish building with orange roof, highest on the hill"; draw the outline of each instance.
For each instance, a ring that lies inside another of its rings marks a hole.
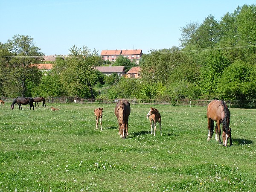
[[[104,61],[116,61],[116,58],[122,55],[127,57],[131,61],[136,59],[137,63],[139,63],[140,58],[142,57],[141,49],[133,49],[133,50],[102,50],[101,57]]]

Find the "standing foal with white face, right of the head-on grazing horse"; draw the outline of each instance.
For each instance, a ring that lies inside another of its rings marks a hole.
[[[153,129],[154,129],[154,136],[156,136],[157,122],[158,122],[160,133],[161,133],[161,136],[162,136],[161,115],[158,112],[158,110],[156,108],[150,108],[146,117],[147,117],[147,119],[149,117],[149,120],[150,120],[151,135],[153,134]]]

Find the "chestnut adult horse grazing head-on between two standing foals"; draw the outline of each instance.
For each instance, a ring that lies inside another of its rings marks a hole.
[[[128,119],[131,113],[130,103],[126,100],[121,100],[116,103],[115,115],[119,124],[118,134],[125,139],[128,136]]]

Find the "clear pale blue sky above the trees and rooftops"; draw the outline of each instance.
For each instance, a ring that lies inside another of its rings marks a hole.
[[[45,55],[179,46],[180,28],[256,0],[0,0],[0,42],[29,35]]]

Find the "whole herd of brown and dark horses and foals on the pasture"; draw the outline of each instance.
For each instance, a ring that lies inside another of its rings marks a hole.
[[[11,109],[14,109],[15,103],[18,104],[19,109],[22,109],[21,105],[30,105],[30,110],[34,105],[35,102],[38,105],[38,102],[43,102],[43,107],[46,106],[45,98],[44,97],[17,97],[11,104]],[[4,105],[3,100],[0,99],[0,105]],[[39,106],[39,105],[38,105]],[[52,111],[56,111],[59,109],[51,107]],[[95,119],[96,119],[96,129],[98,129],[99,121],[100,121],[100,128],[102,131],[102,111],[103,108],[96,108],[94,110]],[[128,120],[129,115],[131,113],[130,103],[126,100],[120,100],[116,103],[115,107],[115,115],[118,120],[119,131],[118,134],[121,138],[125,139],[128,136]],[[161,128],[161,115],[156,108],[150,108],[148,114],[146,115],[147,119],[150,120],[151,125],[151,134],[154,136],[156,135],[156,128],[157,122],[159,124],[160,134],[162,135],[162,128]],[[230,146],[232,145],[232,138],[231,138],[231,128],[230,128],[230,111],[224,102],[224,100],[213,100],[207,106],[207,121],[208,121],[208,138],[209,141],[212,138],[213,131],[214,131],[214,122],[215,125],[215,140],[218,143],[227,146],[227,140],[230,140]],[[221,143],[221,124],[222,124],[222,141]]]

